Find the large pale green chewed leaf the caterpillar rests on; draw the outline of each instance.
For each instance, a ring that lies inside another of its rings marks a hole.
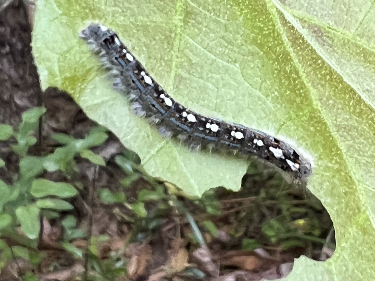
[[[329,262],[297,259],[285,280],[375,280],[374,15],[371,1],[42,1],[33,52],[44,89],[71,93],[151,176],[186,193],[238,190],[248,163],[189,151],[136,117],[78,38],[87,21],[113,28],[188,108],[291,139],[311,155],[308,188],[337,248]]]

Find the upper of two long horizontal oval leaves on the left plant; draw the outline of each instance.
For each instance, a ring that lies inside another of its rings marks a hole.
[[[74,197],[78,191],[67,182],[54,182],[48,179],[34,179],[30,190],[35,197],[54,195],[63,198]]]

